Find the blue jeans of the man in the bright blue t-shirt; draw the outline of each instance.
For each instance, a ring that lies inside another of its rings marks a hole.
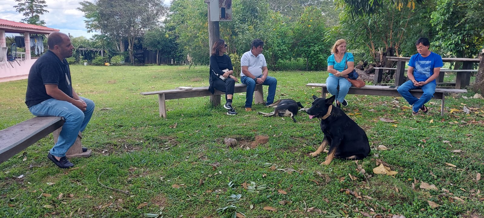
[[[419,112],[419,109],[422,108],[423,104],[427,103],[432,97],[434,97],[436,86],[436,83],[431,82],[421,87],[416,87],[413,85],[412,81],[408,80],[400,87],[398,87],[397,91],[405,100],[407,100],[410,105],[413,105],[412,111],[416,113]],[[421,88],[423,91],[420,99],[410,94],[410,90],[418,88]]]

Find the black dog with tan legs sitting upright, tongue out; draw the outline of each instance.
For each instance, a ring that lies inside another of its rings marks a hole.
[[[316,157],[326,145],[330,145],[328,157],[321,164],[328,165],[335,157],[346,160],[366,158],[370,153],[366,133],[343,110],[333,106],[334,98],[334,95],[329,99],[313,95],[314,102],[306,113],[310,119],[321,118],[324,139],[318,150],[309,155]]]

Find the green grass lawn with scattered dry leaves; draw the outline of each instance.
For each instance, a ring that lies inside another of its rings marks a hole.
[[[414,118],[403,98],[348,95],[344,111],[366,131],[371,153],[321,166],[326,154],[307,156],[322,141],[319,121],[304,113],[294,123],[257,115],[272,111],[262,105],[245,112],[245,93],[236,93],[236,116],[197,97],[168,100],[165,119],[157,96],[139,94],[208,86],[205,66],[74,65],[71,71],[76,91],[96,103],[82,141],[93,155],[60,169],[46,158],[49,135],[0,164],[2,218],[219,218],[235,210],[248,218],[484,216],[482,99],[447,96],[444,117],[440,101],[431,100],[430,112]],[[327,72],[270,75],[278,79],[276,99],[309,106],[321,90],[305,84],[324,83]],[[27,80],[0,83],[0,129],[33,117],[26,86]],[[227,147],[227,137],[238,145]],[[398,173],[375,174],[380,163]]]

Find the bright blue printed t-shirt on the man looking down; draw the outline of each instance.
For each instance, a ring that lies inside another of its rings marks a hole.
[[[408,66],[413,67],[413,77],[417,82],[423,82],[434,74],[434,68],[444,66],[440,55],[430,52],[423,58],[421,54],[413,55],[408,61]],[[435,83],[435,79],[432,81]]]

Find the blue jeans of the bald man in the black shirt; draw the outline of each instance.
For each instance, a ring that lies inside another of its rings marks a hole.
[[[64,157],[69,148],[76,142],[79,131],[84,131],[94,111],[94,102],[80,97],[87,104],[86,111],[81,111],[74,104],[48,99],[29,108],[35,116],[63,116],[65,119],[62,130],[59,133],[57,143],[50,149],[50,154],[56,157]]]

